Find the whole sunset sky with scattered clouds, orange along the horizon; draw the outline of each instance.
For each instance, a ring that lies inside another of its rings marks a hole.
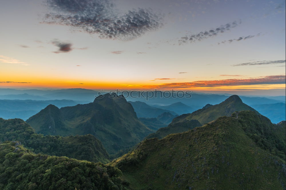
[[[0,88],[285,95],[285,1],[10,0]]]

